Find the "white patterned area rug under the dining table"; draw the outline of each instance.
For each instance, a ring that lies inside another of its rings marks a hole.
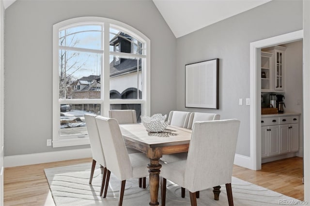
[[[90,185],[91,163],[45,169],[45,174],[56,206],[117,206],[121,181],[111,173],[106,198],[99,196],[101,172],[96,166],[93,184]],[[213,188],[200,192],[199,206],[227,206],[225,185],[221,185],[219,200],[214,200]],[[298,205],[301,201],[275,191],[254,185],[236,177],[232,179],[235,206]],[[150,193],[147,188],[139,188],[138,179],[126,181],[123,206],[148,206]],[[158,202],[161,202],[160,189]],[[167,206],[190,206],[189,194],[181,197],[181,187],[167,180]]]

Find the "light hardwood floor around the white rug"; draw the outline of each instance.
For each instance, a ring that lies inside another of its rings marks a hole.
[[[5,168],[4,206],[54,205],[44,169],[91,161],[91,158],[86,158]],[[260,171],[234,165],[233,176],[299,200],[304,199],[302,158],[264,163]]]

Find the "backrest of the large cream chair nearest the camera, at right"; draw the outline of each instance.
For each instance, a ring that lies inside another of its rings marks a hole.
[[[239,125],[237,119],[194,123],[185,171],[189,191],[231,183]]]

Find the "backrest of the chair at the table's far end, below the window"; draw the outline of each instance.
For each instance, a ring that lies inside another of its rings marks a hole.
[[[115,118],[119,124],[137,123],[136,110],[109,110],[109,118]]]

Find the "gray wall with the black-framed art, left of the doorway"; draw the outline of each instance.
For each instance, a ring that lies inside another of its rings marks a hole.
[[[301,0],[273,0],[177,39],[177,109],[241,120],[237,154],[250,156],[249,44],[302,29]],[[185,64],[219,58],[219,110],[185,108]],[[239,98],[244,104],[238,105]]]

